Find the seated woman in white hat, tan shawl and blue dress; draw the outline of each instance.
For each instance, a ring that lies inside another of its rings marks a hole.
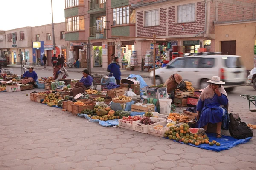
[[[221,137],[221,127],[228,129],[228,98],[227,92],[223,88],[225,82],[220,81],[220,77],[213,76],[209,86],[202,91],[197,103],[197,128],[203,127],[207,130],[208,123],[217,124],[217,138]]]

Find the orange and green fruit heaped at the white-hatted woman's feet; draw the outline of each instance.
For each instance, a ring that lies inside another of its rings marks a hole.
[[[221,146],[217,141],[209,142],[209,137],[205,134],[199,133],[199,129],[190,128],[188,124],[184,123],[180,126],[171,126],[169,130],[164,133],[165,138],[176,140],[177,142],[191,143],[196,146],[200,144],[209,144],[213,146]]]

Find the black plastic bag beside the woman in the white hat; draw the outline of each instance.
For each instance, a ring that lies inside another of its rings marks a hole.
[[[246,123],[242,122],[238,115],[234,115],[232,113],[230,116],[230,125],[229,132],[230,135],[236,139],[245,139],[248,137],[253,137],[253,131],[246,125]]]

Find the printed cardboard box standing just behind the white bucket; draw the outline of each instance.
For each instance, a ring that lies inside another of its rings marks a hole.
[[[167,88],[150,88],[147,87],[147,97],[151,97],[154,99],[167,99],[168,93]]]

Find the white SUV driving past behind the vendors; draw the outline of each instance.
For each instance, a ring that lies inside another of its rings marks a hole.
[[[180,74],[183,80],[189,81],[194,88],[204,89],[212,76],[219,76],[226,82],[227,92],[246,81],[246,71],[240,56],[234,55],[198,55],[177,57],[166,67],[156,70],[156,84],[164,83],[172,74]],[[151,77],[153,73],[151,72]]]

